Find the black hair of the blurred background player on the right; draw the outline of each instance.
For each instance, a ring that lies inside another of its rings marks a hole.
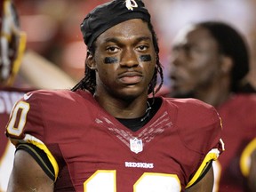
[[[250,59],[248,45],[235,28],[221,21],[204,21],[196,24],[206,28],[219,44],[220,52],[233,60],[231,91],[240,92],[241,82],[249,72]]]

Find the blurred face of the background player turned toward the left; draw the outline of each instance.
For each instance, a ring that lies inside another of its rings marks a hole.
[[[170,65],[173,95],[204,90],[220,74],[218,44],[205,28],[186,28],[174,40]]]

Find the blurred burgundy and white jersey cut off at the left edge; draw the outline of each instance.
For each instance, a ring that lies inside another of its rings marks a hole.
[[[13,145],[6,138],[5,125],[8,122],[12,107],[28,92],[25,89],[0,87],[0,191],[6,191],[14,158]]]

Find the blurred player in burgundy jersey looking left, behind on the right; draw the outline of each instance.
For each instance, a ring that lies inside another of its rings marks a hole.
[[[256,191],[256,95],[241,83],[250,62],[244,37],[204,21],[182,28],[172,45],[170,96],[203,100],[222,119],[226,151],[214,164],[214,191]]]

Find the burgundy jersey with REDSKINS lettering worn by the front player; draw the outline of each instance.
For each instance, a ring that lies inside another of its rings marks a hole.
[[[15,145],[44,149],[55,191],[184,191],[222,151],[220,117],[199,100],[162,100],[132,132],[89,92],[30,92],[13,108],[7,133]]]

